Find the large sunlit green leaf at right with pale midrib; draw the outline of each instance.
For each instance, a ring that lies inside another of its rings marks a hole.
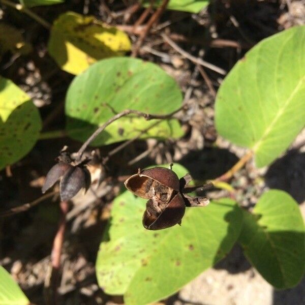
[[[234,66],[216,100],[216,127],[252,148],[259,167],[275,160],[305,120],[305,26],[258,43]]]

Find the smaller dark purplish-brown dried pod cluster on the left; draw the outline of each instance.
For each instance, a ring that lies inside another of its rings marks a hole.
[[[47,173],[42,187],[45,193],[60,179],[60,199],[66,201],[74,197],[81,189],[88,190],[91,184],[90,173],[85,167],[88,160],[76,163],[71,159],[65,146],[56,158],[58,162]]]

